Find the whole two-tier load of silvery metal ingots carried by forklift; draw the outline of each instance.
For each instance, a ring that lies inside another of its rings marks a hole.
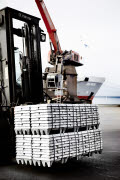
[[[72,157],[79,159],[82,155],[102,150],[96,105],[38,104],[15,107],[15,132],[18,163],[50,167],[56,161],[66,162]],[[29,135],[32,156],[25,154],[24,146],[23,149],[20,147]],[[20,136],[23,137],[21,144],[18,143]]]

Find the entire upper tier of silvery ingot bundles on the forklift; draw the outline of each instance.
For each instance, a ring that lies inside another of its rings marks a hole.
[[[65,132],[66,129],[90,129],[93,126],[99,126],[96,105],[39,104],[15,108],[15,131],[49,134],[51,130]]]

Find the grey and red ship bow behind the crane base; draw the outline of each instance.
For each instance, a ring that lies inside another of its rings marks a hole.
[[[104,83],[103,77],[82,77],[77,80],[77,97],[80,100],[92,101]]]

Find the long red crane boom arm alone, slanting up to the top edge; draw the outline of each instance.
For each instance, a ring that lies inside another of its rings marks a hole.
[[[52,19],[48,13],[48,10],[45,6],[45,3],[43,0],[35,0],[37,6],[38,6],[38,9],[40,11],[40,14],[43,18],[43,21],[45,23],[45,26],[47,28],[47,31],[48,31],[48,34],[49,34],[49,37],[50,37],[50,40],[53,44],[53,47],[54,47],[54,51],[55,53],[56,52],[60,52],[62,53],[62,50],[61,50],[61,46],[60,46],[60,43],[59,43],[59,39],[58,39],[58,36],[57,36],[57,30],[55,29],[55,26],[52,22]]]

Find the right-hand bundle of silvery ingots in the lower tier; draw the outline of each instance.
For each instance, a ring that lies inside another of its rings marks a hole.
[[[33,135],[33,164],[50,167],[53,162],[66,162],[68,158],[92,155],[102,148],[101,132],[97,130]]]

